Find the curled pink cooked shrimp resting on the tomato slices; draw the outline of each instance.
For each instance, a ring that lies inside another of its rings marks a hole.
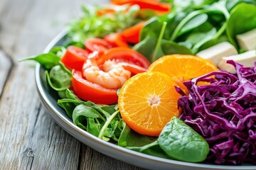
[[[119,89],[131,77],[131,72],[110,60],[103,64],[103,70],[101,70],[95,57],[88,57],[82,67],[82,74],[88,81],[108,89]]]

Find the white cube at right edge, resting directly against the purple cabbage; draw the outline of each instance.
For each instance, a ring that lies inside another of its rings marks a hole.
[[[222,58],[222,60],[218,64],[218,67],[222,70],[225,70],[226,72],[235,74],[235,68],[233,67],[233,65],[227,63],[228,60],[234,60],[234,62],[238,62],[244,67],[254,67],[254,63],[256,62],[256,50],[250,50],[240,55],[233,55]]]

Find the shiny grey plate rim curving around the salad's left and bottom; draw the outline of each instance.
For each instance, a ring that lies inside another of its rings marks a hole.
[[[68,30],[65,29],[61,31],[58,35],[53,38],[53,40],[50,41],[50,43],[46,46],[45,50],[43,50],[43,53],[47,53],[50,51],[52,47],[54,47],[57,42],[59,42],[61,39],[65,38],[65,35],[67,35]],[[150,169],[166,169],[173,168],[174,166],[177,169],[234,169],[234,170],[253,170],[256,169],[256,166],[254,165],[215,165],[215,164],[201,164],[201,163],[191,163],[191,162],[181,162],[176,161],[172,159],[164,159],[161,157],[154,157],[149,154],[143,154],[140,152],[132,151],[129,149],[126,149],[124,147],[120,147],[118,145],[114,145],[110,142],[106,142],[104,140],[100,140],[98,137],[95,137],[91,135],[90,133],[86,132],[85,130],[82,130],[73,122],[65,118],[63,113],[60,113],[58,111],[58,108],[55,108],[53,106],[53,103],[50,102],[48,97],[46,96],[46,90],[43,88],[43,84],[40,77],[41,72],[41,65],[36,64],[36,70],[35,70],[35,79],[36,79],[36,88],[38,91],[38,96],[41,98],[41,102],[43,103],[43,106],[46,108],[46,111],[48,114],[53,118],[55,123],[57,123],[63,130],[68,132],[70,135],[75,137],[77,140],[82,142],[83,144],[92,147],[93,149],[97,150],[97,152],[101,152],[102,154],[106,154],[109,157],[113,157],[114,159],[121,160],[122,162],[127,162],[129,164],[133,164],[135,166],[140,166],[143,168],[150,168]],[[91,142],[94,142],[93,144]],[[97,148],[97,146],[100,145],[100,149]],[[105,149],[110,149],[110,152],[112,154],[107,154]],[[120,154],[124,157],[119,157]],[[127,159],[130,158],[130,159]],[[132,159],[132,160],[131,160]],[[141,164],[140,162],[134,162],[134,160],[139,160],[141,163],[147,163],[147,164]]]

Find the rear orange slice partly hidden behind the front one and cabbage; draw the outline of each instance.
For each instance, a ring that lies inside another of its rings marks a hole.
[[[188,94],[183,81],[217,71],[213,62],[193,55],[166,55],[149,66],[151,72],[162,72],[174,79],[178,86]]]

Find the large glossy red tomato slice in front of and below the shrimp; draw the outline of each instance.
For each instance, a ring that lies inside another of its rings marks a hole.
[[[107,89],[82,78],[82,72],[73,70],[72,80],[75,94],[85,101],[97,104],[113,104],[117,102],[117,89]]]

